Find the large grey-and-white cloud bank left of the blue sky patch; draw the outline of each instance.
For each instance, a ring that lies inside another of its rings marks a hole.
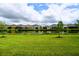
[[[37,22],[40,19],[38,16],[40,16],[38,12],[28,7],[27,4],[0,4],[0,17],[10,19],[12,22],[20,20]]]

